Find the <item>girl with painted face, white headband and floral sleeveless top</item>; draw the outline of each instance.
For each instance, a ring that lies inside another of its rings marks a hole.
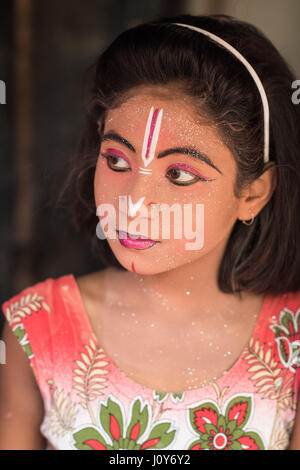
[[[225,15],[134,27],[89,72],[67,187],[106,268],[3,304],[1,448],[300,449],[292,73]]]

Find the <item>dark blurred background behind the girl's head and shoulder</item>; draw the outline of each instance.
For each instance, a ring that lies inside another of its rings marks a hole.
[[[183,13],[256,25],[300,79],[299,0],[1,0],[1,304],[46,278],[101,268],[66,214],[51,208],[83,122],[83,75],[124,29]]]

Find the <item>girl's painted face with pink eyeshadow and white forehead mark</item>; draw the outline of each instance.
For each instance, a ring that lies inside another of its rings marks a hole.
[[[94,191],[120,264],[158,274],[192,262],[205,267],[207,255],[220,259],[238,218],[235,178],[232,153],[182,95],[143,87],[110,110]]]

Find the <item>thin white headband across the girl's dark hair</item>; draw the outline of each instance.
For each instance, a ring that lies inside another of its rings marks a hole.
[[[210,33],[209,31],[206,31],[205,29],[197,28],[196,26],[191,26],[188,24],[182,24],[182,23],[173,23],[176,24],[177,26],[183,26],[185,28],[193,29],[195,31],[198,31],[199,33],[205,34],[206,36],[210,37],[213,41],[218,42],[221,44],[223,47],[228,49],[235,57],[237,57],[248,69],[249,73],[252,75],[253,80],[256,83],[256,86],[258,88],[258,91],[261,96],[262,104],[263,104],[263,109],[264,109],[264,162],[269,161],[269,104],[268,104],[268,99],[267,95],[265,92],[265,89],[263,87],[263,84],[260,81],[259,76],[255,72],[254,68],[252,65],[249,64],[249,62],[245,59],[242,54],[240,54],[239,51],[237,51],[234,47],[232,47],[228,42],[224,41],[224,39],[219,38],[215,34]]]

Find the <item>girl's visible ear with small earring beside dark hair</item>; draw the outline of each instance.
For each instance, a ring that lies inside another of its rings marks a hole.
[[[239,199],[238,219],[249,220],[269,202],[276,188],[276,168],[273,162],[265,165],[263,174],[242,191]]]

